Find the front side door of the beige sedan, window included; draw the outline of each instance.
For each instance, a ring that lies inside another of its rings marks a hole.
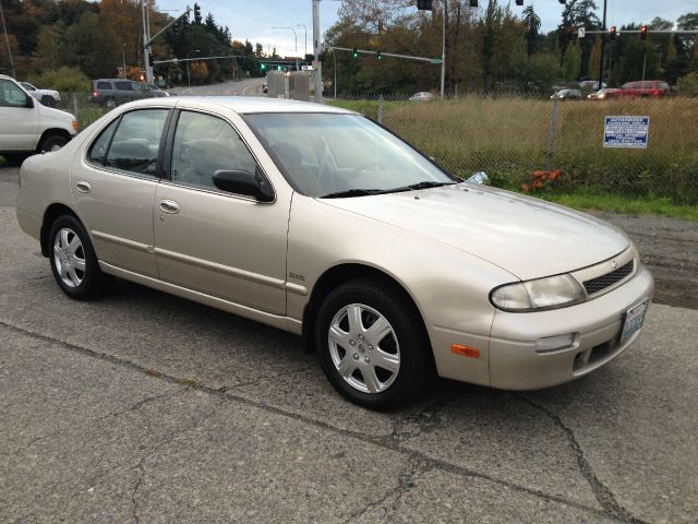
[[[170,134],[169,180],[158,184],[155,198],[160,278],[285,314],[291,192],[277,192],[275,202],[258,203],[214,186],[216,170],[261,169],[237,130],[219,116],[182,110]]]

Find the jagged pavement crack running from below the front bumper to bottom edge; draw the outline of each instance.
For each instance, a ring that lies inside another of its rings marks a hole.
[[[591,487],[591,490],[593,491],[593,495],[597,498],[597,501],[609,515],[622,522],[629,522],[633,524],[636,524],[636,523],[639,524],[645,522],[633,516],[625,508],[623,508],[618,503],[618,501],[615,499],[615,496],[613,495],[611,489],[609,489],[609,487],[599,479],[595,472],[591,467],[591,464],[585,456],[585,452],[581,449],[581,445],[579,445],[579,442],[577,441],[577,437],[575,436],[575,432],[573,431],[571,428],[565,425],[565,422],[563,421],[562,418],[559,418],[559,416],[557,416],[555,413],[553,413],[550,408],[547,408],[543,404],[539,404],[534,401],[531,401],[530,398],[526,397],[520,393],[513,392],[512,394],[517,398],[519,398],[520,401],[528,404],[529,406],[533,407],[534,409],[546,415],[551,420],[553,420],[553,422],[559,429],[562,429],[562,431],[566,434],[567,440],[569,442],[569,446],[571,448],[575,454],[575,457],[577,460],[577,468],[579,469],[579,474],[587,480],[587,483],[589,483],[589,486]]]

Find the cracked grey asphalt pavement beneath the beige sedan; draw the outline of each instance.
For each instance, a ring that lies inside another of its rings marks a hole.
[[[0,521],[696,522],[698,311],[570,384],[376,414],[298,337],[128,283],[68,299],[0,169]]]

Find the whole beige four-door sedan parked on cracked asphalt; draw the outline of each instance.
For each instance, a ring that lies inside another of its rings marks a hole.
[[[653,293],[621,230],[464,182],[328,106],[135,102],[20,178],[19,223],[69,297],[116,276],[297,333],[376,409],[434,373],[508,390],[586,376],[633,344]]]

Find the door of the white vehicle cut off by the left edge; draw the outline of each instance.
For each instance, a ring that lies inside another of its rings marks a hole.
[[[34,99],[11,80],[0,79],[0,151],[35,150],[38,129]]]

